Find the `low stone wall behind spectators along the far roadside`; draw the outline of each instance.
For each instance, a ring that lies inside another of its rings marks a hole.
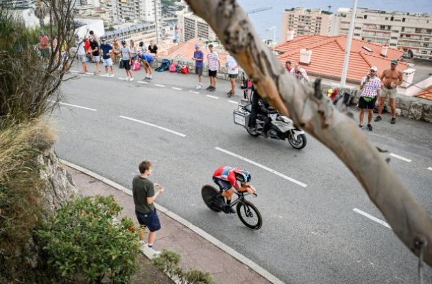
[[[154,63],[155,68],[160,65],[162,59],[163,58],[156,59],[156,62]],[[195,73],[195,62],[191,60],[171,60],[171,62],[179,65],[189,66],[190,72]],[[206,76],[207,74],[208,68],[206,64],[204,64],[203,75]],[[217,79],[229,79],[226,66],[221,66],[221,71],[217,73]],[[241,76],[237,77],[237,81],[241,81]],[[311,83],[311,86],[312,85],[313,83]],[[354,99],[352,99],[352,105],[357,105],[357,103],[359,102],[361,90],[357,87],[339,88],[339,84],[337,83],[322,83],[321,85],[321,90],[323,94],[326,94],[327,90],[330,88],[337,88],[339,93],[349,92],[350,94],[352,94],[354,96]],[[385,104],[389,109],[388,100]],[[398,94],[396,96],[395,105],[396,115],[398,116],[405,116],[407,118],[432,122],[432,101],[420,99],[416,96],[405,96],[403,94]]]

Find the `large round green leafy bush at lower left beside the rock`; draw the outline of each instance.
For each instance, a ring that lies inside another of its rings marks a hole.
[[[48,266],[58,279],[86,283],[128,283],[136,271],[139,242],[132,220],[113,196],[69,201],[38,231]]]

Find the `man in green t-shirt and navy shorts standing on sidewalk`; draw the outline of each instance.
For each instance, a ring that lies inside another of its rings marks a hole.
[[[156,231],[160,230],[160,221],[156,208],[154,208],[153,202],[156,197],[164,192],[164,188],[158,185],[158,183],[152,183],[147,177],[152,175],[153,165],[149,161],[143,161],[139,164],[140,175],[134,177],[132,181],[132,194],[134,196],[135,214],[136,219],[140,224],[139,229],[139,240],[142,244],[144,243],[144,232],[147,227],[150,231],[148,242],[145,244],[148,248],[153,249],[154,239],[156,237]],[[154,187],[158,188],[158,191],[154,192]],[[155,253],[158,253],[155,251]]]

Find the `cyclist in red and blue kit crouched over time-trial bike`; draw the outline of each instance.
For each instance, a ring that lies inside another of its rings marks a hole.
[[[235,190],[247,191],[249,194],[254,194],[256,191],[255,188],[248,184],[250,179],[250,172],[241,168],[221,166],[213,172],[213,181],[221,190],[219,194],[226,198],[226,204],[224,204],[225,213],[235,213],[235,209],[230,207],[231,197]],[[240,182],[240,185],[237,181]]]

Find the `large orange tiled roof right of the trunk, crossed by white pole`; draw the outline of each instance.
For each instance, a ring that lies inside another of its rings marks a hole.
[[[346,36],[300,36],[279,44],[278,51],[285,51],[278,59],[283,64],[289,60],[293,64],[300,61],[300,50],[312,51],[311,64],[305,66],[309,75],[340,79],[344,66]],[[363,46],[372,50],[372,53],[363,49]],[[381,55],[380,44],[353,39],[351,42],[350,62],[348,64],[347,81],[359,83],[361,78],[368,74],[371,66],[378,67],[379,73],[390,67],[390,61],[396,60],[403,55],[403,51],[390,48],[387,57]],[[405,70],[407,64],[400,62],[398,70]]]

